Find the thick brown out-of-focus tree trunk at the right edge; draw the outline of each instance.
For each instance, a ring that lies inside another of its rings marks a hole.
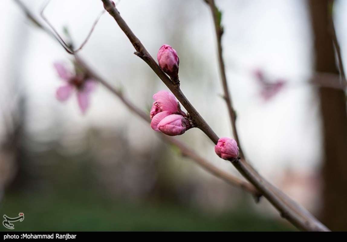
[[[329,34],[329,0],[309,0],[315,48],[315,70],[338,73]],[[324,163],[321,219],[332,231],[347,231],[347,114],[345,92],[319,88]]]

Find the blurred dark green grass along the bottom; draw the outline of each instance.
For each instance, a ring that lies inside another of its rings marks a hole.
[[[93,194],[70,197],[7,195],[1,216],[25,219],[14,231],[293,231],[293,227],[244,209],[206,215],[169,203],[125,203]],[[10,231],[1,226],[0,231]]]

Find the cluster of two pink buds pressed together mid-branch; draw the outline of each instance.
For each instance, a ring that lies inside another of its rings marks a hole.
[[[151,128],[170,136],[183,134],[187,130],[189,122],[174,94],[159,91],[153,95],[153,99],[155,101],[150,113]]]

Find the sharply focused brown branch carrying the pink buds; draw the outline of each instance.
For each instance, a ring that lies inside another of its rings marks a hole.
[[[102,0],[105,8],[109,14],[116,20],[121,30],[126,34],[130,42],[136,49],[136,55],[141,57],[158,75],[158,77],[166,84],[166,86],[175,94],[177,99],[187,109],[189,114],[193,117],[194,121],[198,124],[198,127],[210,137],[210,139],[217,143],[218,136],[212,131],[212,129],[202,119],[200,114],[191,106],[190,102],[186,100],[185,96],[181,92],[178,86],[174,85],[169,78],[160,70],[154,59],[146,51],[142,43],[137,39],[134,33],[130,30],[125,21],[121,18],[118,10],[112,6],[109,0]],[[201,125],[203,124],[203,125]],[[327,227],[321,224],[313,216],[306,216],[308,212],[298,211],[293,209],[293,206],[288,205],[286,201],[282,201],[281,197],[276,193],[274,186],[270,185],[263,177],[261,177],[253,167],[251,167],[245,160],[237,160],[232,164],[239,170],[244,177],[250,181],[261,193],[268,199],[271,204],[278,209],[280,214],[285,217],[289,222],[298,227],[301,230],[306,231],[329,231]],[[296,206],[298,207],[298,206]]]

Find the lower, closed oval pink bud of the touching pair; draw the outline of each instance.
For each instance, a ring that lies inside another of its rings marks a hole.
[[[158,129],[167,135],[175,136],[186,132],[187,120],[182,115],[171,114],[163,118],[158,124]]]

